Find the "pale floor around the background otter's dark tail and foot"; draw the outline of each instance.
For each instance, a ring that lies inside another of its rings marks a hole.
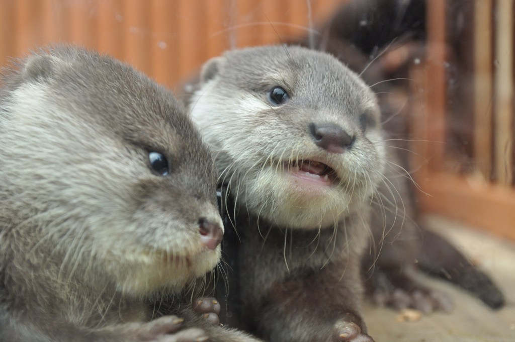
[[[492,311],[457,287],[424,277],[428,285],[452,296],[454,311],[409,322],[400,321],[399,312],[366,303],[370,335],[376,342],[515,342],[515,244],[439,217],[427,217],[427,226],[477,261],[501,287],[507,305]]]

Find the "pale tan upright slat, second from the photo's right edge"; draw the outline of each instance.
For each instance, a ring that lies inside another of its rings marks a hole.
[[[492,0],[474,7],[474,158],[486,180],[492,160]]]

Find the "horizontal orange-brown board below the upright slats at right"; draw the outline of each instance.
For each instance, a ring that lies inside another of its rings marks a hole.
[[[515,191],[501,185],[435,173],[420,184],[418,194],[426,213],[458,219],[515,241]]]

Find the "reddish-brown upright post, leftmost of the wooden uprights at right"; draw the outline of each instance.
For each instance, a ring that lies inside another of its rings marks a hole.
[[[427,3],[427,65],[425,104],[428,160],[431,168],[443,164],[445,142],[445,0]],[[430,117],[430,118],[429,118]]]

